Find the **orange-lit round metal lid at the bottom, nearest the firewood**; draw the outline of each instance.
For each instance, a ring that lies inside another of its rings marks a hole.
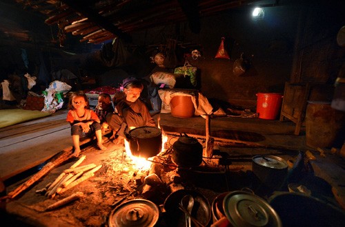
[[[110,227],[155,226],[159,218],[156,204],[146,199],[132,199],[110,213]]]

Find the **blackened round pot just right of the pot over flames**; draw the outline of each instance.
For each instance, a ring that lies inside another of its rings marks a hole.
[[[202,162],[202,149],[197,139],[183,133],[172,144],[172,162],[183,167],[199,166]]]

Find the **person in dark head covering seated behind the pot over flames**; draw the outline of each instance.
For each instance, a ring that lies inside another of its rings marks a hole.
[[[144,89],[143,83],[138,78],[130,77],[124,79],[124,98],[116,103],[115,114],[107,115],[107,122],[111,129],[117,133],[115,144],[124,141],[126,134],[131,129],[142,126],[155,127],[155,120],[150,116],[148,107],[139,99],[141,91]]]

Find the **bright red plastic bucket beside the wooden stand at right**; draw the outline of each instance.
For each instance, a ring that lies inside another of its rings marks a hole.
[[[257,94],[257,114],[259,118],[275,120],[282,107],[283,96],[277,93],[258,93]]]

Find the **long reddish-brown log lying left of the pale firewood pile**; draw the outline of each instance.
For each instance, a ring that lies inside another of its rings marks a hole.
[[[66,160],[70,158],[72,158],[72,150],[61,151],[61,153],[57,155],[57,158],[55,158],[55,160],[48,162],[38,173],[33,175],[29,180],[21,184],[21,186],[19,186],[18,188],[14,189],[14,191],[8,193],[8,198],[14,199],[14,197],[17,197],[17,195],[32,186],[32,184],[41,179],[41,177],[49,173],[53,168],[55,168],[55,166],[59,166],[59,164],[66,162]]]

